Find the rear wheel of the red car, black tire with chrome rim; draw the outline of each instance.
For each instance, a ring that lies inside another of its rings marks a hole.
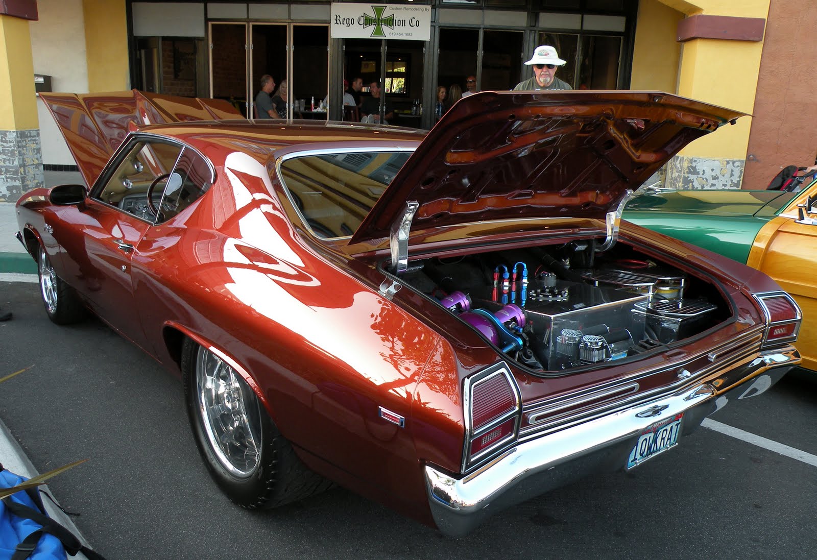
[[[298,459],[249,385],[216,354],[187,339],[181,369],[196,445],[230,500],[274,508],[332,486]]]

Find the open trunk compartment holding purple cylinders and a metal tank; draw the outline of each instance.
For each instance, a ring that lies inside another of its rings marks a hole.
[[[711,283],[620,241],[415,260],[400,280],[541,372],[666,348],[730,316]]]

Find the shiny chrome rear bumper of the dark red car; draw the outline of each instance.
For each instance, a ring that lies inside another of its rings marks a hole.
[[[730,380],[742,381],[721,385],[727,390],[718,389],[718,379],[708,376],[691,388],[522,442],[462,478],[426,465],[431,514],[446,535],[466,535],[502,509],[588,474],[626,467],[651,426],[682,414],[681,435],[691,433],[730,400],[765,392],[799,362],[792,346],[757,353],[728,372]]]

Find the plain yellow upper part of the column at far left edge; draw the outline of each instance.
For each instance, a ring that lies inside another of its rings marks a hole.
[[[0,16],[0,130],[38,126],[29,21]]]

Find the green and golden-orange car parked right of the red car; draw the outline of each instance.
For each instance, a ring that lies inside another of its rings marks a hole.
[[[802,366],[817,371],[817,180],[809,180],[797,192],[647,189],[623,219],[774,278],[801,307],[796,345]]]

